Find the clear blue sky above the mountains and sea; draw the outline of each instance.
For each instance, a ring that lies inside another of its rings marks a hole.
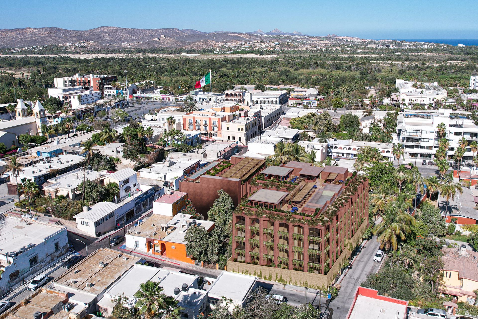
[[[103,25],[373,39],[477,39],[477,0],[2,0],[0,29]],[[470,27],[471,26],[471,27]]]

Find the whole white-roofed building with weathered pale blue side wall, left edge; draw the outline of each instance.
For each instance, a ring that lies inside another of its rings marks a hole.
[[[1,295],[69,252],[65,227],[5,215],[0,224]]]

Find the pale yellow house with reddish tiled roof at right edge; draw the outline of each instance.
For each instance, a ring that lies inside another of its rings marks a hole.
[[[445,254],[443,295],[456,297],[458,301],[473,304],[478,290],[478,253],[465,248],[443,248]]]

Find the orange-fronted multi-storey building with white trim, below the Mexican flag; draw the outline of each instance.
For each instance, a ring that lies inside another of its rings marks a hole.
[[[183,131],[199,131],[204,137],[221,137],[221,123],[232,119],[232,113],[191,111],[183,115]]]

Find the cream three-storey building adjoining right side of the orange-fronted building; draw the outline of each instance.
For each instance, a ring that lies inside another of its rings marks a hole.
[[[250,139],[259,134],[259,123],[259,117],[249,116],[248,110],[239,111],[239,117],[221,123],[222,138],[246,145]]]

